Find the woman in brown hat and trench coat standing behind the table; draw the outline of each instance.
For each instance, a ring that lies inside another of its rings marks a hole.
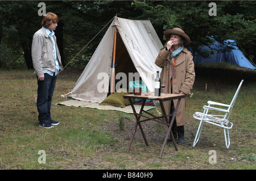
[[[180,28],[166,30],[164,31],[164,36],[168,42],[166,47],[160,50],[155,64],[162,68],[160,79],[166,82],[163,92],[185,95],[180,101],[179,109],[172,125],[172,133],[174,134],[175,140],[178,138],[177,143],[184,143],[187,95],[191,91],[195,81],[193,56],[187,48],[184,48],[191,40]],[[173,113],[176,104],[177,100],[164,102],[166,112]],[[172,141],[171,137],[168,138],[168,141]]]

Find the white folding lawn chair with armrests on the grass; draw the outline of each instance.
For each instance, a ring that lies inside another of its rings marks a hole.
[[[236,102],[238,92],[242,86],[243,80],[240,82],[240,85],[237,88],[236,94],[234,95],[232,102],[228,104],[217,103],[213,101],[208,101],[208,106],[203,106],[204,112],[195,112],[193,117],[197,120],[200,120],[199,127],[197,129],[196,137],[193,142],[193,148],[196,146],[199,141],[200,134],[203,128],[204,123],[210,123],[216,125],[218,127],[224,128],[224,136],[225,136],[225,144],[226,148],[229,149],[230,139],[229,139],[229,129],[233,127],[233,123],[229,121],[230,113],[232,112],[232,108],[234,103]],[[215,107],[213,107],[214,105]],[[218,108],[221,107],[221,108]],[[210,111],[209,111],[210,110]],[[212,112],[218,112],[218,115],[213,115]]]

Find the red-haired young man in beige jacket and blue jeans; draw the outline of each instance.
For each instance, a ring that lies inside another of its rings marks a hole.
[[[43,16],[42,28],[38,30],[32,41],[32,62],[38,79],[38,107],[39,126],[52,128],[58,121],[51,118],[52,95],[55,89],[57,73],[63,69],[59,48],[53,30],[59,21],[56,14],[48,12]]]

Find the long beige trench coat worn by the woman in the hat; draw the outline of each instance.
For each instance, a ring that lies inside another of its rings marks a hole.
[[[171,93],[171,75],[170,75],[170,53],[164,48],[160,50],[156,57],[155,64],[162,68],[160,74],[161,81],[166,82],[164,93]],[[176,60],[175,78],[172,78],[172,94],[180,94],[183,91],[186,95],[189,94],[195,81],[195,69],[192,53],[187,48],[184,48]],[[187,96],[180,101],[179,109],[176,113],[177,126],[185,124],[185,107]],[[171,102],[163,102],[166,113],[170,113]],[[174,106],[177,105],[177,99],[174,100]]]

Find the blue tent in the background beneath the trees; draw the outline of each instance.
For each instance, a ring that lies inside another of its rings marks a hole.
[[[223,52],[223,45],[218,43],[217,41],[214,41],[214,43],[208,47],[204,46],[202,47],[203,50],[214,50],[214,53],[210,58],[204,58],[197,52],[193,52],[193,61],[195,63],[220,63],[220,62],[229,62],[230,64],[235,64],[244,68],[248,69],[255,69],[255,66],[251,64],[249,60],[245,56],[243,56],[243,53],[241,50],[238,49],[236,41],[235,40],[226,40],[227,43],[230,43],[234,49],[230,50],[229,52]]]

